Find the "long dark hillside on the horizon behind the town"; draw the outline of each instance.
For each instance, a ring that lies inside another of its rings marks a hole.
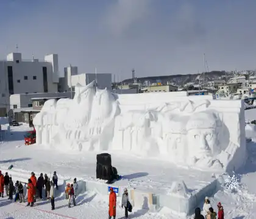
[[[229,80],[229,78],[234,77],[235,74],[255,74],[255,71],[243,71],[243,72],[235,72],[235,71],[211,71],[211,72],[205,72],[204,74],[204,80],[205,83],[213,80]],[[203,80],[203,74],[187,74],[187,75],[165,75],[165,76],[152,76],[152,77],[140,77],[137,78],[137,82],[144,83],[146,81],[151,83],[161,82],[163,85],[165,85],[167,82],[174,83],[175,85],[182,86],[186,83],[193,82],[195,84],[199,83],[199,79]],[[123,80],[122,82],[124,85],[133,83],[132,78]]]

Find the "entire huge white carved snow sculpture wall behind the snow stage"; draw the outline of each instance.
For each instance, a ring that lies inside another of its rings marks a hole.
[[[37,144],[122,150],[200,169],[236,170],[246,160],[243,100],[187,92],[112,94],[94,82],[74,99],[48,100],[34,118]]]

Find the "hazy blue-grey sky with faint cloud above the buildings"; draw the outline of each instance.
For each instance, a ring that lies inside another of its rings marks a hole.
[[[1,0],[0,58],[59,54],[60,71],[110,72],[119,80],[256,69],[256,1]],[[117,76],[116,76],[117,78]]]

